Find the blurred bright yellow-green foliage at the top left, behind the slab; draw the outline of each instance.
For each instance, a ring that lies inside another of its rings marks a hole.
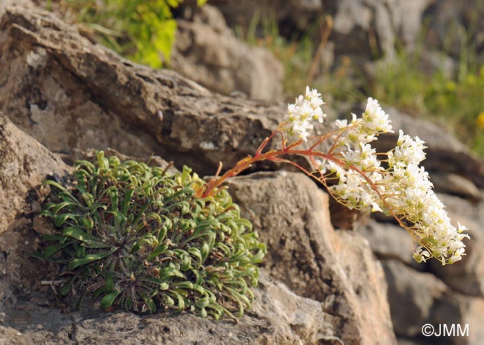
[[[59,6],[95,41],[134,62],[160,68],[169,64],[176,32],[171,10],[180,3],[183,0],[60,0]]]

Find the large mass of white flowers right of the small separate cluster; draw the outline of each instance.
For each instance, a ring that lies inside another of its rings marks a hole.
[[[400,131],[397,146],[378,159],[369,142],[380,133],[392,131],[389,115],[377,100],[368,99],[362,118],[336,122],[339,131],[331,157],[315,160],[324,176],[335,174],[336,185],[328,191],[350,209],[371,209],[394,216],[418,243],[413,257],[434,257],[454,263],[464,254],[463,234],[467,227],[454,227],[438,200],[429,176],[419,163],[425,159],[424,142]],[[381,162],[387,162],[383,167]]]

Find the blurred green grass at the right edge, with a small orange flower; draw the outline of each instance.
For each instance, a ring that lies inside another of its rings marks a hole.
[[[377,65],[366,92],[385,104],[436,120],[484,157],[484,66],[460,63],[458,71],[425,73],[418,54],[400,51]]]

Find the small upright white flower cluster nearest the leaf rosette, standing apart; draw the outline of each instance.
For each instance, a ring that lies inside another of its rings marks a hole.
[[[291,135],[297,134],[304,141],[308,140],[309,131],[313,129],[313,120],[322,123],[326,114],[321,106],[324,104],[321,94],[315,88],[306,86],[306,95],[299,95],[293,104],[288,104]]]

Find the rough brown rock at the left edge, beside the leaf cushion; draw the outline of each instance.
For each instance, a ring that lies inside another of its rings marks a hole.
[[[60,178],[68,171],[0,113],[0,319],[14,293],[32,288],[36,272],[44,271],[30,258],[37,241],[32,227],[40,212],[38,187],[47,176]]]

